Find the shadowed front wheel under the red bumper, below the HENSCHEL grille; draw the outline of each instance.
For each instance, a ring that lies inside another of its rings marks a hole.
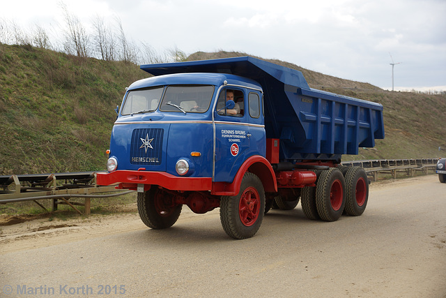
[[[141,221],[149,228],[160,230],[170,228],[180,217],[183,205],[174,205],[169,195],[152,186],[137,196],[138,213]]]

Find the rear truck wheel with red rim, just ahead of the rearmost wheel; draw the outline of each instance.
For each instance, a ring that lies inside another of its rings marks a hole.
[[[321,172],[316,184],[316,208],[323,221],[337,221],[344,211],[345,181],[341,171],[330,168]]]

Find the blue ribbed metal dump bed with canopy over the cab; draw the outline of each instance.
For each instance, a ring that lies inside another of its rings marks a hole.
[[[383,106],[312,89],[298,70],[253,57],[141,66],[152,75],[231,73],[259,82],[266,137],[280,139],[282,161],[340,160],[384,138]]]

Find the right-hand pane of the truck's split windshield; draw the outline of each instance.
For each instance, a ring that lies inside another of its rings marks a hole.
[[[209,109],[213,86],[169,86],[160,105],[162,112],[203,113]]]

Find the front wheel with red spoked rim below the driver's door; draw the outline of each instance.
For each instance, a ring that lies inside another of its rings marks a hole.
[[[238,195],[222,197],[220,221],[234,239],[246,239],[259,230],[265,212],[265,191],[259,177],[245,173]]]

